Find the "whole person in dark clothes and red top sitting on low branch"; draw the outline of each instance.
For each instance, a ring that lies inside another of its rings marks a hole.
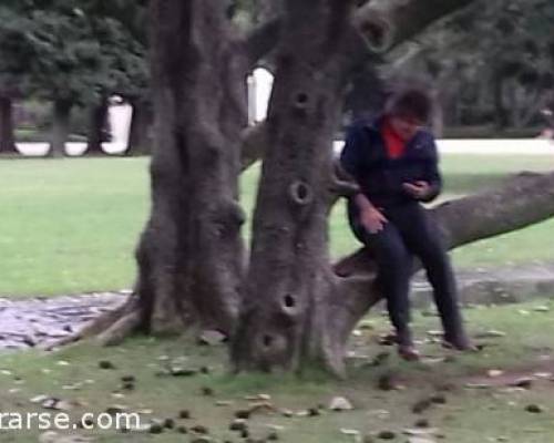
[[[409,324],[413,256],[421,259],[433,287],[444,346],[472,349],[440,229],[421,205],[433,200],[442,185],[434,137],[424,130],[431,113],[432,101],[422,90],[398,92],[382,116],[349,130],[340,157],[360,188],[348,202],[350,227],[377,261],[378,284],[387,299],[399,354],[406,360],[419,359]]]

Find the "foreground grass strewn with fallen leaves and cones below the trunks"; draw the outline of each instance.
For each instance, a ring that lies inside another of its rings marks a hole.
[[[41,354],[25,352],[0,356],[0,401],[2,412],[44,412],[31,403],[37,395],[49,395],[78,404],[69,412],[72,422],[85,412],[100,413],[119,404],[127,412],[143,411],[142,423],[153,419],[175,419],[177,425],[207,426],[215,441],[244,441],[227,430],[234,411],[248,408],[245,395],[265,393],[270,395],[277,409],[297,413],[319,404],[327,405],[335,395],[348,398],[355,405],[350,412],[321,411],[319,416],[285,418],[280,413],[258,413],[249,420],[252,435],[260,439],[269,433],[268,425],[279,427],[280,441],[294,443],[349,443],[356,440],[340,430],[357,430],[376,435],[382,431],[397,433],[393,440],[406,443],[401,435],[413,429],[417,420],[427,419],[437,427],[444,441],[455,443],[475,442],[525,442],[550,443],[554,433],[554,370],[552,332],[554,311],[538,312],[535,305],[466,310],[472,333],[495,329],[505,331],[502,338],[481,340],[486,344],[478,354],[449,354],[438,344],[422,347],[425,356],[435,358],[421,363],[400,361],[391,348],[376,344],[376,337],[388,331],[379,316],[373,316],[372,329],[363,330],[355,339],[358,356],[366,359],[350,361],[348,381],[336,381],[326,374],[311,371],[298,379],[283,374],[248,374],[230,377],[225,369],[223,348],[198,348],[187,339],[135,338],[121,347],[96,349],[89,344],[68,348],[58,353]],[[522,309],[527,311],[522,313]],[[438,319],[416,315],[419,338],[429,329],[437,329]],[[378,353],[388,352],[389,358],[380,365],[370,361]],[[447,361],[437,358],[449,357]],[[99,362],[107,360],[115,369],[101,370]],[[158,372],[178,362],[188,369],[209,368],[208,374],[193,377],[160,377]],[[490,370],[504,374],[488,375]],[[521,375],[533,375],[530,390],[509,389],[507,384]],[[121,378],[134,375],[135,389],[122,391]],[[378,380],[390,375],[400,390],[381,391]],[[507,374],[507,377],[505,377]],[[541,379],[543,378],[543,379]],[[541,379],[541,380],[538,380]],[[468,383],[491,385],[470,389]],[[65,387],[65,389],[63,388]],[[68,389],[71,388],[71,389]],[[213,390],[205,395],[204,388]],[[440,392],[444,404],[433,404],[423,413],[412,412],[412,406],[422,399]],[[216,405],[218,401],[230,401],[230,405]],[[530,413],[525,409],[536,404],[542,413]],[[144,411],[146,410],[146,411]],[[151,411],[147,411],[151,410]],[[188,410],[191,420],[178,420],[179,411]],[[148,413],[150,412],[150,413]],[[86,434],[85,432],[81,432]],[[0,431],[2,442],[37,442],[39,431]],[[175,430],[161,435],[145,433],[123,434],[116,431],[96,431],[98,442],[192,442]],[[505,440],[502,440],[505,439]],[[373,440],[380,441],[380,440]],[[421,442],[423,443],[423,442]]]

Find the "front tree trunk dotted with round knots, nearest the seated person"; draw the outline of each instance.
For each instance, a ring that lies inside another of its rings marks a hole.
[[[250,267],[232,350],[236,370],[298,369],[329,354],[326,319],[336,280],[327,239],[330,142],[341,113],[351,4],[286,2]]]

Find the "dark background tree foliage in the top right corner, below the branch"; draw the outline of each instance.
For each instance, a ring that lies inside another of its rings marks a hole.
[[[476,1],[421,35],[402,69],[438,85],[447,126],[536,126],[552,96],[553,20],[543,0]]]

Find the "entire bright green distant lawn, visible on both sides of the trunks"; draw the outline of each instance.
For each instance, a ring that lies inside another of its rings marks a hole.
[[[521,171],[554,169],[554,156],[444,158],[447,193],[460,196]],[[250,210],[258,168],[243,177]],[[148,210],[147,159],[0,161],[0,295],[58,295],[132,286],[133,250]],[[337,205],[332,255],[357,247]],[[454,253],[461,267],[554,261],[554,220]]]

